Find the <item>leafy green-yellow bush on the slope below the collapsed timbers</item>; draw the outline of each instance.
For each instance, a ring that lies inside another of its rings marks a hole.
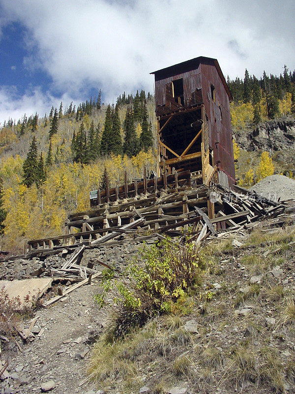
[[[119,316],[117,325],[142,325],[149,317],[161,313],[175,312],[186,298],[198,287],[205,268],[203,259],[198,257],[194,242],[180,245],[166,238],[142,251],[139,261],[130,263],[121,280],[113,279],[113,272],[107,271],[102,281],[103,292],[95,296],[100,306],[106,303],[111,292]],[[118,328],[118,327],[117,327]]]

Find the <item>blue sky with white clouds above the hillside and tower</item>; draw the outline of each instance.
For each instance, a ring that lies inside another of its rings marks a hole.
[[[0,0],[0,124],[102,89],[153,93],[150,71],[197,56],[230,78],[295,68],[295,2]]]

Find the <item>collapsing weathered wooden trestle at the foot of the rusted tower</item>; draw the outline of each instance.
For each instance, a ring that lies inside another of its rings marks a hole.
[[[247,228],[285,209],[279,202],[236,185],[233,190],[219,184],[210,187],[198,184],[198,179],[190,171],[175,171],[104,190],[100,204],[68,216],[64,235],[28,241],[25,256],[44,257],[81,245],[99,247],[118,236],[126,242],[141,241],[150,237],[147,230],[179,235],[190,226],[190,231],[197,234],[206,224],[210,233],[217,235],[218,230]]]

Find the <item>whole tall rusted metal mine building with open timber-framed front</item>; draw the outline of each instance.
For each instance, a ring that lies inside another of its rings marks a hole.
[[[198,57],[155,76],[158,176],[190,170],[199,183],[236,183],[231,92],[216,59]]]

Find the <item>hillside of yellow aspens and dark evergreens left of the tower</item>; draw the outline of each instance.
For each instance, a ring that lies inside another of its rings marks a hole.
[[[122,99],[123,98],[123,99]],[[89,192],[121,183],[124,171],[142,177],[155,167],[153,97],[125,93],[116,105],[98,99],[24,115],[0,130],[0,176],[5,234],[2,249],[17,252],[24,239],[58,235],[69,212],[89,208]]]

